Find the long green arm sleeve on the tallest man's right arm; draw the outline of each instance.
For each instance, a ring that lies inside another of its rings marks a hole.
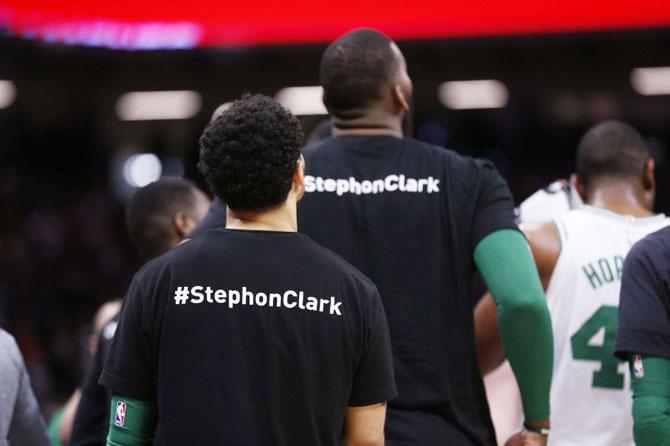
[[[489,234],[475,263],[496,302],[500,338],[516,376],[526,421],[549,417],[554,345],[551,318],[528,243],[513,229]]]

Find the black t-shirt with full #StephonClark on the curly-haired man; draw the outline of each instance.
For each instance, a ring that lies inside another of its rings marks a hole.
[[[154,400],[158,444],[338,444],[396,394],[375,286],[308,237],[216,229],[152,260],[101,383]]]

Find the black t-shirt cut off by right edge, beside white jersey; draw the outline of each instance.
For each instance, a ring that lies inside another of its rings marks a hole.
[[[614,350],[623,359],[670,359],[670,227],[640,240],[626,257]]]

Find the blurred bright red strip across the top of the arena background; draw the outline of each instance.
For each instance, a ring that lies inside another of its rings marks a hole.
[[[188,48],[327,42],[356,27],[397,39],[670,26],[670,2],[651,0],[5,0],[10,32],[63,43]]]

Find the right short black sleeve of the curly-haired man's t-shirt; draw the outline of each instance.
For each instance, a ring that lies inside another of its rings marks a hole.
[[[350,407],[386,402],[398,393],[393,375],[393,356],[386,314],[375,290],[364,328],[365,348],[354,373]]]

